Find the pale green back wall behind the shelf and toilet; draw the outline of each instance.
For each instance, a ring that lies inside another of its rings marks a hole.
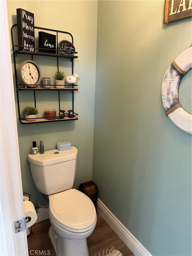
[[[32,195],[33,203],[46,204],[32,181],[27,161],[32,141],[36,140],[39,146],[40,140],[43,140],[45,150],[50,150],[56,148],[58,141],[69,140],[79,150],[74,186],[92,178],[97,1],[7,1],[9,27],[16,23],[16,8],[34,13],[35,26],[70,32],[78,52],[78,59],[74,60],[74,72],[79,74],[79,91],[74,93],[74,111],[79,114],[79,120],[31,125],[21,125],[18,122],[23,191]],[[19,61],[23,60],[21,58],[28,59],[29,56],[18,56]],[[39,64],[42,76],[51,77],[53,82],[53,74],[57,69],[56,58],[34,56],[34,61]],[[59,59],[59,62],[61,69],[71,74],[70,61]],[[40,116],[45,108],[54,107],[55,104],[58,106],[56,95],[57,92],[38,93]],[[32,102],[30,92],[22,92],[20,99],[23,107]],[[70,109],[70,99],[70,96],[63,101],[61,98],[64,110]]]

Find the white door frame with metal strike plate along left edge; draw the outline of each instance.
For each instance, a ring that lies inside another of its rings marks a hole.
[[[1,9],[1,201],[0,255],[29,255],[26,230],[14,232],[13,222],[25,218],[23,191],[19,161],[19,145],[16,126],[15,98],[13,90],[13,72],[10,54],[10,31],[8,30],[7,5],[0,1]]]

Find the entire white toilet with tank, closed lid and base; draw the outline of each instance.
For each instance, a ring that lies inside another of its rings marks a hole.
[[[76,174],[77,149],[57,149],[29,154],[37,189],[49,195],[49,237],[58,256],[88,256],[87,237],[95,229],[97,214],[92,201],[72,189]]]

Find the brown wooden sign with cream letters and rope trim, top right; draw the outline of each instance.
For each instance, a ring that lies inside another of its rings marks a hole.
[[[192,0],[165,0],[163,23],[192,16]]]

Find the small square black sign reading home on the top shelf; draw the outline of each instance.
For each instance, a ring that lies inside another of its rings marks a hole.
[[[39,31],[39,49],[40,53],[56,53],[56,35]]]

